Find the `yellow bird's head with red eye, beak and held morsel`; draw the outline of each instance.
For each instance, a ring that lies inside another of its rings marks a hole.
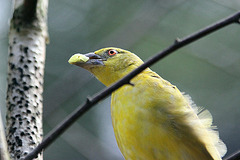
[[[114,47],[87,54],[77,53],[68,62],[90,71],[107,86],[143,64],[135,54]]]

